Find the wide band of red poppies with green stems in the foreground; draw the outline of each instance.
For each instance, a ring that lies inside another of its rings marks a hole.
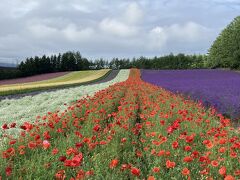
[[[6,133],[14,122],[2,126]],[[5,135],[2,179],[239,179],[230,119],[129,78]]]

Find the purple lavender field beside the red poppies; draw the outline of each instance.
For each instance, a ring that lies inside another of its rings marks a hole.
[[[240,73],[226,70],[142,70],[143,80],[240,118]]]

